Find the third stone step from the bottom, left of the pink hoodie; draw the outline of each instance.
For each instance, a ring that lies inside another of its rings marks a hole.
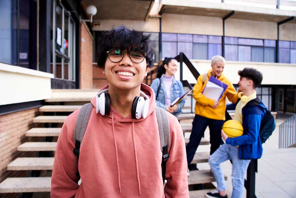
[[[57,142],[25,142],[17,147],[17,151],[55,151]]]

